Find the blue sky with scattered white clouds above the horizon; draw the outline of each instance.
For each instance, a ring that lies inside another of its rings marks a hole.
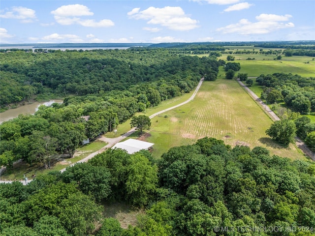
[[[315,0],[1,0],[1,43],[315,40]]]

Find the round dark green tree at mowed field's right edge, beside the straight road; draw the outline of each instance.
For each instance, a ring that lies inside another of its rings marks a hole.
[[[288,146],[289,143],[294,141],[296,127],[292,120],[283,119],[277,120],[271,124],[270,128],[266,130],[266,134],[273,140]]]

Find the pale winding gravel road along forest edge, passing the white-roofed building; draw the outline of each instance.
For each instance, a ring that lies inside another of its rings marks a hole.
[[[152,118],[158,116],[158,115],[161,114],[161,113],[170,111],[170,110],[172,110],[172,109],[174,109],[174,108],[177,108],[177,107],[180,107],[180,106],[183,106],[183,105],[189,103],[189,102],[190,102],[191,100],[193,100],[194,97],[196,96],[196,94],[197,94],[198,90],[200,89],[201,84],[202,84],[203,81],[204,81],[204,78],[201,78],[201,80],[199,81],[199,83],[198,83],[196,89],[194,90],[194,92],[192,93],[192,95],[189,97],[189,99],[187,99],[185,102],[182,102],[182,103],[180,103],[180,104],[178,104],[178,105],[175,105],[175,106],[173,106],[173,107],[170,107],[170,108],[164,109],[164,110],[162,110],[162,111],[159,111],[159,112],[157,112],[157,113],[151,115],[149,118],[152,119]],[[102,152],[105,151],[107,148],[111,148],[111,147],[113,147],[115,144],[117,144],[118,142],[124,140],[126,137],[128,137],[129,135],[131,135],[132,133],[134,133],[135,130],[136,130],[136,128],[132,128],[132,129],[130,129],[128,132],[126,132],[125,134],[123,134],[123,135],[121,135],[121,136],[119,136],[119,137],[117,137],[117,138],[106,138],[106,137],[103,137],[103,136],[99,137],[98,140],[101,140],[101,141],[106,142],[107,145],[106,145],[105,147],[99,149],[98,151],[95,151],[95,152],[91,153],[90,155],[88,155],[87,157],[81,159],[80,161],[77,161],[77,162],[71,164],[70,166],[73,166],[73,165],[75,165],[76,163],[87,162],[88,160],[90,160],[91,158],[93,158],[95,155],[97,155],[97,154],[99,154],[99,153],[102,153]],[[66,168],[62,169],[61,172],[64,172],[65,169],[66,169]],[[29,182],[31,182],[31,181],[32,181],[32,179],[29,179],[29,180],[27,180],[27,183],[29,183]],[[11,182],[13,182],[13,181],[0,180],[0,183],[11,183]],[[25,180],[20,180],[20,182],[22,182],[24,185],[26,185],[26,181],[25,181]]]

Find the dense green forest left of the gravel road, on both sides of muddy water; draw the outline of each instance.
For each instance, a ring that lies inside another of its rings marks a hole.
[[[2,54],[1,105],[49,95],[63,104],[41,106],[0,125],[1,165],[73,155],[83,140],[112,131],[120,122],[161,101],[189,93],[201,77],[216,77],[212,57],[180,56],[164,49],[67,50]],[[84,117],[88,117],[85,119]],[[116,123],[115,123],[116,122]]]

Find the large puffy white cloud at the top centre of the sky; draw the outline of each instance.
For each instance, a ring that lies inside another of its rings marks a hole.
[[[198,21],[187,16],[179,6],[165,6],[163,8],[151,6],[143,11],[139,11],[139,9],[134,8],[127,14],[136,20],[147,20],[147,24],[161,25],[173,30],[185,31],[198,27]]]

